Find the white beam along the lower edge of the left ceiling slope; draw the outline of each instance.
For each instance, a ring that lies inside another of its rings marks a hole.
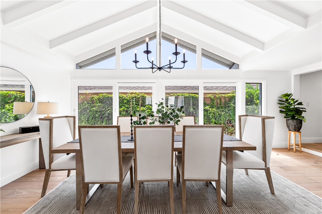
[[[0,27],[1,42],[4,42],[14,48],[20,49],[34,57],[47,61],[51,64],[55,64],[66,70],[74,69],[74,62],[70,61],[56,53],[53,53],[48,48],[42,47],[36,43],[30,42],[30,40],[22,37],[16,32],[4,27]]]

